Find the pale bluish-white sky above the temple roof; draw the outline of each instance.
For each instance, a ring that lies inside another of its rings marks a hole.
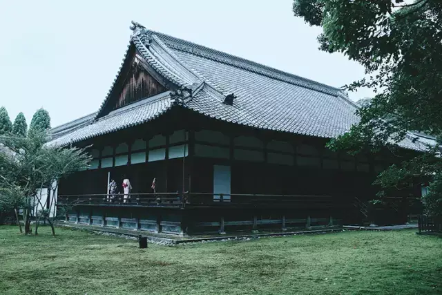
[[[146,28],[340,87],[364,76],[318,50],[320,28],[291,0],[0,0],[0,106],[28,124],[46,108],[57,126],[97,111],[128,45],[131,20]],[[349,93],[353,100],[373,94]]]

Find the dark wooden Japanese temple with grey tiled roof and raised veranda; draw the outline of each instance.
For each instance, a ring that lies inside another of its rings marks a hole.
[[[51,131],[48,144],[87,146],[93,157],[87,170],[59,180],[67,222],[185,235],[367,218],[374,178],[398,159],[325,148],[358,122],[340,88],[139,23],[132,30],[97,112]],[[401,147],[425,149],[411,135]],[[111,180],[117,192],[109,194]],[[419,192],[398,192],[387,222],[402,222]]]

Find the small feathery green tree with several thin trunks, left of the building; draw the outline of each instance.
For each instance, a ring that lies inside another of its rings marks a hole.
[[[84,149],[48,146],[46,140],[43,132],[29,133],[28,137],[0,137],[0,142],[12,152],[12,156],[0,157],[0,199],[4,206],[13,207],[16,212],[22,209],[25,234],[31,233],[31,211],[39,204],[42,210],[36,216],[35,234],[43,219],[48,220],[55,235],[54,217],[43,209],[38,192],[42,188],[57,189],[58,180],[85,169],[90,162]],[[50,198],[50,202],[55,202],[55,196]]]

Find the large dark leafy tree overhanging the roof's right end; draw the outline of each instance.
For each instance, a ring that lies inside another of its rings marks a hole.
[[[345,88],[376,93],[356,111],[360,122],[329,142],[329,148],[348,153],[394,148],[411,130],[441,138],[442,1],[294,0],[293,10],[323,28],[321,50],[343,53],[365,67],[367,78]],[[430,157],[417,155],[391,166],[376,183],[387,189],[417,180],[432,183],[429,196],[442,196],[440,158],[434,159],[439,145],[429,152]]]

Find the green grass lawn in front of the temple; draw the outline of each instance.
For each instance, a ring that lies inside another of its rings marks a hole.
[[[441,294],[442,239],[346,231],[139,249],[136,240],[0,227],[0,294]]]

